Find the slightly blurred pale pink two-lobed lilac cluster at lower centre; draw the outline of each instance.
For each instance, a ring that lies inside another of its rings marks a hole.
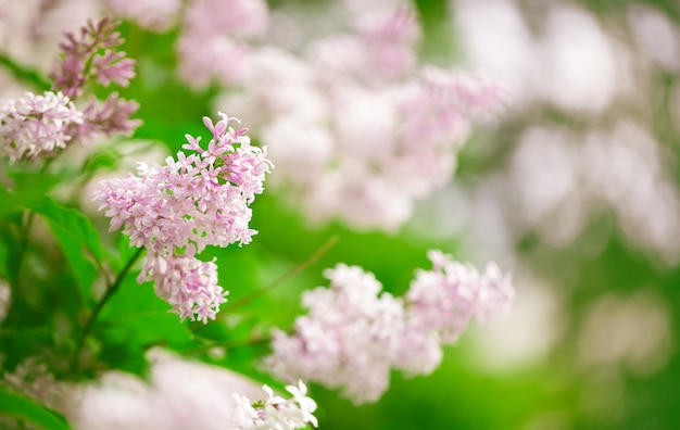
[[[326,270],[330,288],[303,294],[308,314],[297,318],[292,334],[274,330],[265,366],[284,380],[340,389],[357,404],[382,395],[391,369],[432,372],[441,345],[455,342],[470,320],[507,313],[514,289],[493,264],[480,274],[439,251],[428,257],[432,270],[418,270],[404,298],[380,293],[380,283],[361,267]]]

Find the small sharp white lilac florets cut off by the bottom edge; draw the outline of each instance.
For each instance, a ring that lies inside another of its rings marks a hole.
[[[274,395],[274,391],[263,385],[268,397],[251,403],[241,394],[234,394],[236,407],[232,423],[238,430],[293,430],[306,428],[307,423],[318,427],[314,415],[316,402],[308,397],[307,388],[302,381],[298,385],[287,385],[292,399]]]

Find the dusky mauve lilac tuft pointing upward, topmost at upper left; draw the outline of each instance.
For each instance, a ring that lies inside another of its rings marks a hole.
[[[59,45],[62,56],[50,74],[52,88],[75,98],[83,94],[83,87],[91,78],[103,86],[113,83],[126,87],[136,76],[135,60],[113,49],[124,41],[115,31],[117,26],[117,22],[104,17],[97,23],[88,21],[79,36],[65,31],[66,41]]]

